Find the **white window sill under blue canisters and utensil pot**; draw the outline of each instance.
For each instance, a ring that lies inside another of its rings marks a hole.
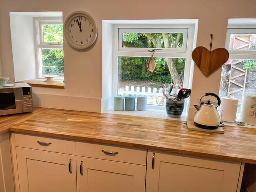
[[[157,110],[157,109],[147,109],[146,111],[115,111],[112,108],[104,111],[104,113],[110,114],[119,114],[119,115],[130,115],[130,116],[139,116],[139,117],[148,117],[148,118],[158,118],[158,119],[169,119],[169,120],[177,120],[177,121],[186,121],[187,113],[183,112],[181,117],[172,118],[166,114],[165,110]]]

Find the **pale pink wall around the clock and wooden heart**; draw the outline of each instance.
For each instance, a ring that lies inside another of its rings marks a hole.
[[[9,76],[10,80],[14,81],[9,12],[62,11],[65,20],[73,11],[86,11],[98,24],[98,40],[95,46],[88,52],[76,52],[64,43],[66,89],[62,91],[44,89],[43,92],[79,96],[88,100],[98,99],[94,111],[100,112],[102,20],[199,19],[197,46],[208,48],[209,35],[212,33],[214,35],[212,49],[215,49],[224,47],[228,18],[256,18],[255,6],[256,2],[252,0],[2,0],[0,2],[0,55],[3,75]],[[209,78],[205,78],[195,67],[191,104],[197,104],[200,96],[205,92],[218,93],[219,84],[220,70]],[[191,110],[190,114],[193,115],[193,113],[194,111]]]

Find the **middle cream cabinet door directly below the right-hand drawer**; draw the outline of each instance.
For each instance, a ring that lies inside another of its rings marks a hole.
[[[78,192],[145,192],[146,166],[76,157]]]

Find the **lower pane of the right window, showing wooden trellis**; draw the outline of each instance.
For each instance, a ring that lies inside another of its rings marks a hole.
[[[256,94],[256,61],[228,60],[222,67],[219,95],[238,98],[240,112],[243,93]]]

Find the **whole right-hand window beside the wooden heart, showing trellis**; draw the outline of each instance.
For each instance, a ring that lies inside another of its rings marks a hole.
[[[228,28],[226,49],[230,56],[222,67],[219,95],[238,98],[239,113],[242,95],[256,93],[256,29]]]

